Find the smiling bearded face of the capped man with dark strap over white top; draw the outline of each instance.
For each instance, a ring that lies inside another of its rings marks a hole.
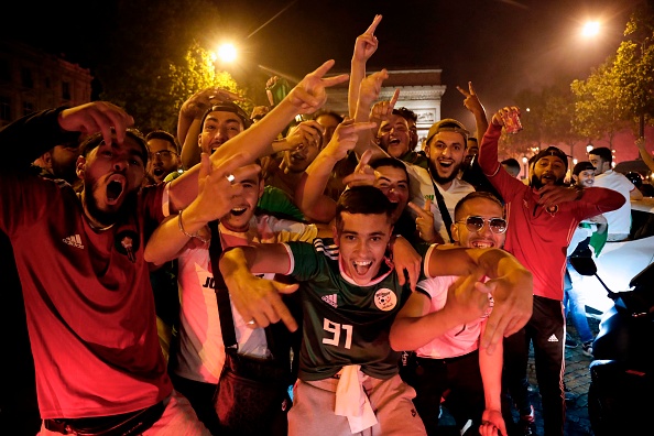
[[[445,188],[449,188],[451,181],[459,174],[466,153],[465,141],[460,133],[440,131],[432,138],[425,149],[425,154],[429,157],[432,177]]]

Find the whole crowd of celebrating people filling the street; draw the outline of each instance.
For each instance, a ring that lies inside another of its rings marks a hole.
[[[556,146],[519,179],[498,155],[519,108],[489,120],[471,83],[473,129],[443,119],[418,143],[399,92],[379,99],[388,72],[366,73],[381,20],[350,75],[328,61],[250,115],[208,88],[176,132],[108,101],[0,131],[28,362],[6,363],[25,374],[26,404],[2,392],[11,434],[248,434],[217,401],[233,352],[288,372],[274,414],[240,411],[257,434],[437,435],[446,407],[461,434],[534,435],[530,347],[545,434],[564,434],[567,316],[592,353],[567,258],[625,239],[640,192],[601,148],[571,186]],[[346,80],[348,113],[321,109]]]

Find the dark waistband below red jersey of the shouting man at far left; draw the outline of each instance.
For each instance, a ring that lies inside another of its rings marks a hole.
[[[141,408],[140,411],[120,415],[98,416],[89,418],[54,418],[44,419],[50,432],[62,435],[80,436],[131,436],[140,435],[161,418],[166,408],[163,401]]]

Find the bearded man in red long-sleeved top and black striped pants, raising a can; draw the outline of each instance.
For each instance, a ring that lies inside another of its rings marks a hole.
[[[527,340],[514,340],[513,350],[515,359],[521,361],[519,375],[524,380],[523,394],[526,396],[528,342],[533,341],[545,434],[563,435],[565,319],[562,301],[566,248],[582,219],[617,209],[624,198],[610,189],[566,187],[568,160],[555,146],[534,156],[528,186],[512,177],[498,162],[503,119],[511,111],[517,108],[506,107],[493,116],[481,142],[479,165],[506,205],[511,226],[504,248],[534,274],[533,315],[525,327]],[[521,414],[531,415],[528,411],[521,411]],[[531,423],[533,417],[524,421]]]

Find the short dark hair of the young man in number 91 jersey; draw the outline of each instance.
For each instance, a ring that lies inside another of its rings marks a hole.
[[[395,205],[374,186],[352,186],[338,198],[336,204],[336,227],[342,229],[341,212],[363,215],[385,215],[391,221]]]

